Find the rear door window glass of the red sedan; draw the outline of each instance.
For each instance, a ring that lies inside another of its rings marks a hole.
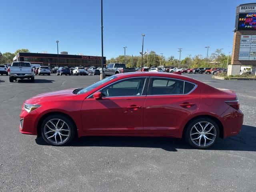
[[[152,78],[149,95],[172,95],[184,93],[184,81],[170,78]]]

